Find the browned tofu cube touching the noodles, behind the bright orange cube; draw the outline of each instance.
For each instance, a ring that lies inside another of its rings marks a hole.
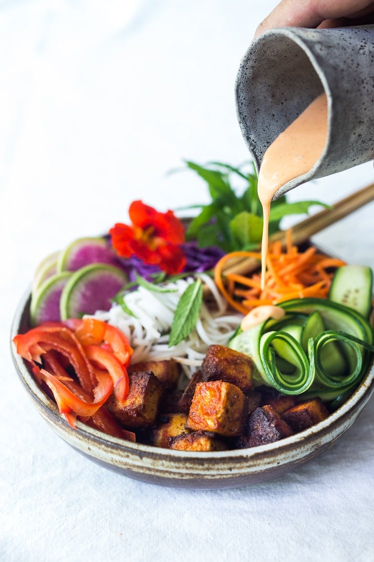
[[[210,346],[201,366],[204,380],[224,380],[242,392],[252,387],[253,361],[248,355],[229,347]]]

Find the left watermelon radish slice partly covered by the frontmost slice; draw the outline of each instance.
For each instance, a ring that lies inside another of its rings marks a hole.
[[[43,322],[58,322],[60,316],[60,298],[70,271],[52,275],[42,283],[31,296],[30,321],[37,326]]]

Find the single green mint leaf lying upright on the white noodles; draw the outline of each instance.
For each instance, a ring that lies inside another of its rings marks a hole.
[[[195,328],[202,303],[202,281],[197,279],[188,285],[179,299],[170,330],[169,347],[186,339]]]

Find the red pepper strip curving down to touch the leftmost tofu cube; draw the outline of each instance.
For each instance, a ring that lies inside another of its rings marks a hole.
[[[107,369],[114,384],[114,396],[119,402],[126,400],[128,395],[127,370],[112,352],[100,346],[84,346],[90,361],[96,362],[101,368]],[[95,371],[97,374],[97,371]],[[97,376],[97,375],[96,375]]]

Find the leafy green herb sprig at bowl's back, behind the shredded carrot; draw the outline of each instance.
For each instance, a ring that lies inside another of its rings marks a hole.
[[[244,162],[235,167],[222,162],[208,162],[202,166],[187,160],[186,166],[205,180],[211,197],[207,205],[183,208],[200,209],[188,226],[187,239],[196,239],[200,247],[218,246],[227,252],[258,247],[262,235],[262,207],[253,163]],[[234,187],[234,182],[240,182],[242,187]],[[320,201],[289,203],[285,195],[273,201],[269,234],[280,229],[284,216],[307,213],[312,205],[327,207]]]

